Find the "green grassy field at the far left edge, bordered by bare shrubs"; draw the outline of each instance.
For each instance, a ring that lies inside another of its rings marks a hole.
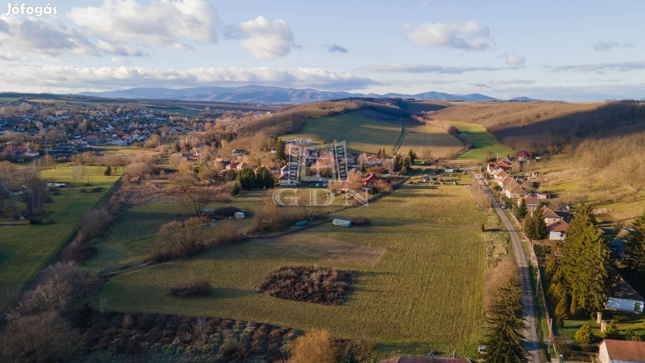
[[[104,176],[98,167],[87,167],[87,173],[92,187],[61,188],[60,195],[52,195],[53,202],[45,204],[45,213],[35,217],[43,220],[40,225],[9,222],[6,218],[1,220],[1,223],[14,226],[2,227],[0,238],[0,311],[4,311],[12,303],[15,293],[55,256],[76,230],[84,211],[94,207],[119,178]],[[74,180],[70,164],[59,164],[56,169],[43,172],[42,176],[56,182]],[[82,188],[97,187],[103,189],[81,192]]]

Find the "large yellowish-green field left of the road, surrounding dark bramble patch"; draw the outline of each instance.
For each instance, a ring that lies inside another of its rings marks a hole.
[[[404,185],[391,196],[341,216],[369,216],[371,227],[330,224],[281,238],[250,240],[195,258],[119,273],[96,297],[110,309],[220,316],[279,326],[329,329],[352,337],[365,329],[379,358],[430,349],[475,356],[483,319],[486,264],[481,223],[465,187]],[[101,254],[99,249],[99,254]],[[355,289],[342,306],[291,302],[253,291],[280,265],[352,269]],[[207,298],[182,300],[168,289],[206,278]]]

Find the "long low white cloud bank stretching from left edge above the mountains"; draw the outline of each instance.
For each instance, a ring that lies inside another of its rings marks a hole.
[[[123,61],[119,57],[112,60],[117,63]],[[320,68],[299,68],[289,71],[268,67],[200,67],[190,70],[175,70],[140,67],[93,68],[16,65],[11,69],[0,68],[0,79],[5,87],[11,85],[11,90],[16,92],[21,90],[79,92],[87,89],[248,84],[350,90],[377,84],[370,78],[355,76],[348,72],[330,72]]]

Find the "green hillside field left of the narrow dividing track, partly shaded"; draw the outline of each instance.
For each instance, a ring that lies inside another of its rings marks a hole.
[[[303,129],[283,139],[303,138],[313,142],[347,141],[354,152],[392,152],[401,136],[401,120],[373,110],[357,110],[304,121]]]

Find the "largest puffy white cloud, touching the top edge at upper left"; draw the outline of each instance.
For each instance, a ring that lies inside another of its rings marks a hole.
[[[181,39],[215,43],[219,22],[205,0],[103,0],[72,8],[68,17],[92,35],[114,43],[175,44]]]

